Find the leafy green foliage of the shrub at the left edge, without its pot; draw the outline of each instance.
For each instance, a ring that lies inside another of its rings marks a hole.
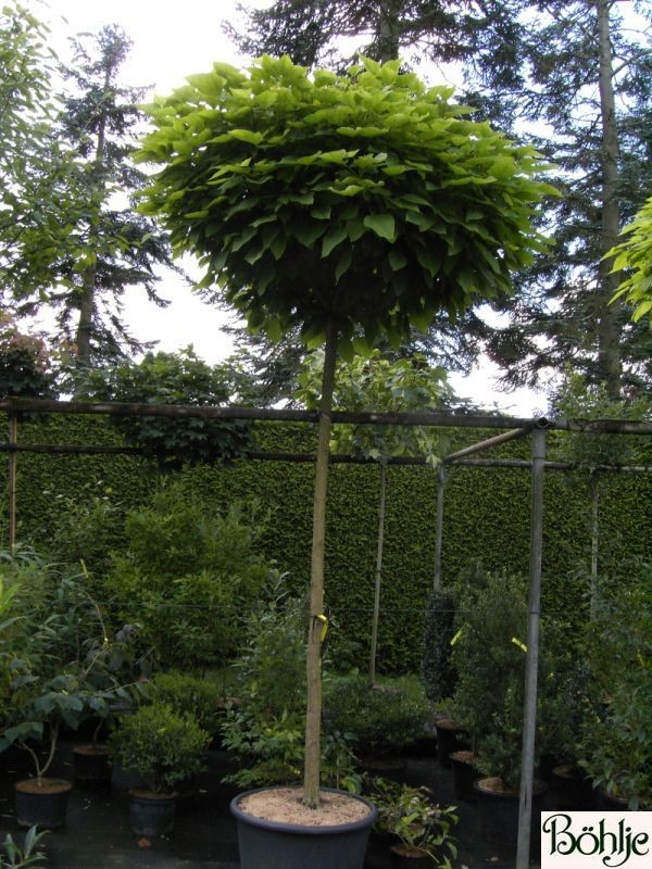
[[[85,577],[47,564],[30,552],[2,558],[3,603],[10,619],[0,635],[7,673],[0,751],[25,747],[42,777],[52,763],[62,723],[76,729],[87,717],[108,717],[111,705],[137,693],[130,658],[112,641]],[[49,741],[45,759],[27,744]]]

